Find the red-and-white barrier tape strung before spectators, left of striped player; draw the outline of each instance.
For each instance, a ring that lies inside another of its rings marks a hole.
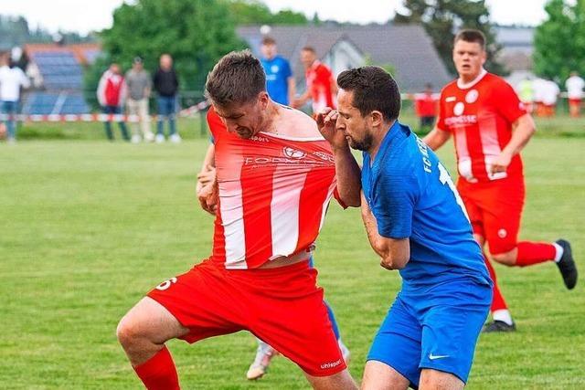
[[[178,117],[185,118],[197,114],[199,111],[203,111],[209,107],[209,102],[203,100],[194,106],[188,107],[178,112]],[[148,119],[158,121],[159,119],[165,120],[166,115],[150,115]],[[37,115],[37,114],[2,114],[0,113],[0,121],[52,121],[52,122],[63,122],[63,121],[127,121],[136,123],[140,121],[139,115],[125,115],[125,114],[48,114],[48,115]]]

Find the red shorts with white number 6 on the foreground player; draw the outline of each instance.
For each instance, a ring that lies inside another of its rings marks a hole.
[[[166,280],[148,296],[191,332],[207,337],[247,330],[298,364],[327,376],[346,368],[308,261],[277,269],[228,270],[210,260]]]

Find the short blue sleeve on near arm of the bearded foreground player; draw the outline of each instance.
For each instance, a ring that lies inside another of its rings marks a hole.
[[[378,234],[387,238],[407,238],[412,234],[412,213],[419,184],[414,175],[384,175],[378,188],[372,213],[378,223]]]

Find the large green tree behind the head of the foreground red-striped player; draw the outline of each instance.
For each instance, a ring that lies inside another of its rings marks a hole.
[[[235,20],[221,0],[138,0],[113,13],[113,26],[101,32],[105,58],[129,69],[136,56],[154,72],[161,54],[174,58],[183,90],[203,90],[207,72],[223,55],[245,44]],[[104,61],[97,61],[100,73]],[[95,77],[93,77],[95,79]],[[94,89],[90,81],[86,84]]]

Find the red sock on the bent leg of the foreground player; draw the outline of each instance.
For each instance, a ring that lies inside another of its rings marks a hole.
[[[134,367],[134,371],[148,390],[179,390],[175,363],[166,347],[149,360]]]

